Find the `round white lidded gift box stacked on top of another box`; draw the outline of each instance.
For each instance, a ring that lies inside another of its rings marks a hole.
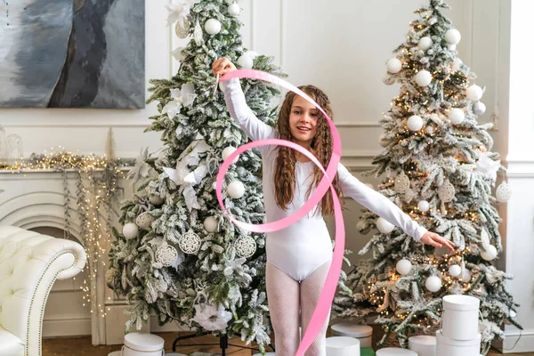
[[[441,334],[453,340],[473,340],[478,335],[481,301],[470,295],[445,295],[441,313]]]

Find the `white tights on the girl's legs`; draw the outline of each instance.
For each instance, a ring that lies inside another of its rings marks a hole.
[[[274,328],[276,356],[295,356],[300,344],[300,321],[302,321],[302,333],[304,335],[312,319],[315,306],[319,302],[320,291],[327,279],[330,263],[331,261],[322,264],[301,282],[287,276],[274,264],[267,263],[267,298],[271,312],[271,323]],[[328,320],[329,317],[305,356],[325,356],[327,354]]]

